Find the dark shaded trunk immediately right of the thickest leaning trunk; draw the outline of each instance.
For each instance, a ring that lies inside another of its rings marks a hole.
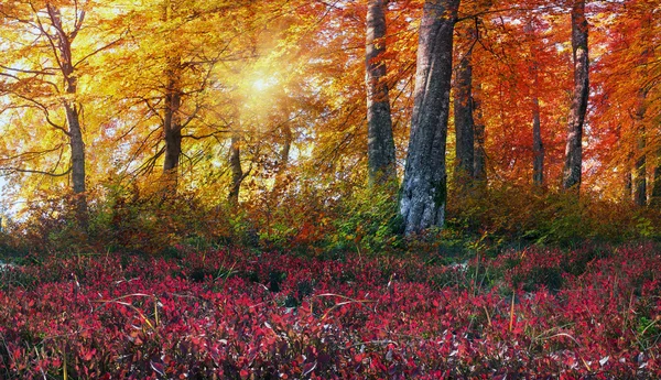
[[[475,122],[473,120],[473,65],[465,52],[456,68],[454,113],[456,137],[455,182],[462,185],[475,176]]]

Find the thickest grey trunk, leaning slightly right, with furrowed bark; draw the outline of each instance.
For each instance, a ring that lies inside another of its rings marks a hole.
[[[458,6],[459,0],[427,0],[423,7],[415,104],[400,199],[405,234],[442,227],[445,218],[445,143]]]

